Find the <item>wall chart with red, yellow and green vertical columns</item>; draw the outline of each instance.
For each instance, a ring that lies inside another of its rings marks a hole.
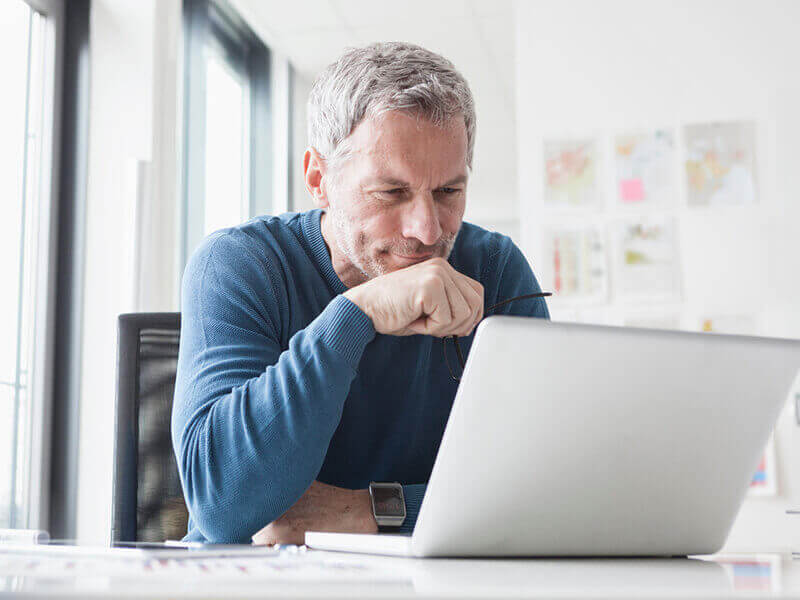
[[[554,300],[594,303],[608,299],[606,246],[599,228],[551,228],[545,240]]]

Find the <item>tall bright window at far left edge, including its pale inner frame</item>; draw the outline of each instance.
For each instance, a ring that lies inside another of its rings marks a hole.
[[[0,96],[0,527],[39,525],[54,31],[28,3],[3,4],[0,54],[14,58]]]

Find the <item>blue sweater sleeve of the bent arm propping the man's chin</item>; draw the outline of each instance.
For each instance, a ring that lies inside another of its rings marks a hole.
[[[337,296],[282,349],[275,269],[218,234],[184,274],[172,442],[209,542],[249,543],[311,485],[375,336]]]

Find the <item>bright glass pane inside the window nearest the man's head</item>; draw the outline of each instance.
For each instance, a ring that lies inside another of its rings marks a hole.
[[[247,93],[245,84],[215,52],[206,54],[207,235],[246,218]]]

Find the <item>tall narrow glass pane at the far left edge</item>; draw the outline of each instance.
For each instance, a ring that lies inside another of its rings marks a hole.
[[[0,527],[28,525],[31,352],[39,240],[44,18],[21,0],[3,6],[0,53]]]

